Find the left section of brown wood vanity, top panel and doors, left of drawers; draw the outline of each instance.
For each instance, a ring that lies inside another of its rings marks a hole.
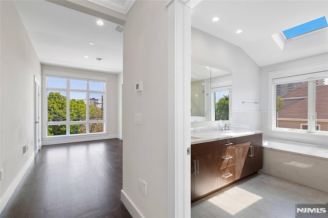
[[[217,141],[192,145],[191,199],[217,189]]]

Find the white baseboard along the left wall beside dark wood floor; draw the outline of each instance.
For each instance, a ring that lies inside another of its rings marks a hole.
[[[9,201],[11,195],[14,193],[14,191],[17,188],[20,180],[23,179],[23,177],[24,177],[27,169],[29,168],[29,166],[33,162],[34,158],[35,158],[35,155],[34,155],[34,152],[33,152],[33,154],[31,155],[31,157],[25,163],[25,165],[23,166],[23,168],[18,172],[18,175],[15,177],[15,179],[12,181],[12,183],[8,187],[7,191],[4,193],[4,195],[0,199],[0,213],[3,211],[3,209],[7,205],[7,203]]]

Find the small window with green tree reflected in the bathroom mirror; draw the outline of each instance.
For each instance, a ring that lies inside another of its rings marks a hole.
[[[213,120],[231,120],[231,87],[232,86],[223,86],[212,88]]]

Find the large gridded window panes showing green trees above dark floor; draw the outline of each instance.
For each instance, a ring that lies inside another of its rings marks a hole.
[[[105,82],[46,76],[47,137],[105,132]]]

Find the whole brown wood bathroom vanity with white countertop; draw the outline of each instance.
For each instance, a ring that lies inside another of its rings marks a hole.
[[[191,134],[191,201],[262,169],[261,131]]]

